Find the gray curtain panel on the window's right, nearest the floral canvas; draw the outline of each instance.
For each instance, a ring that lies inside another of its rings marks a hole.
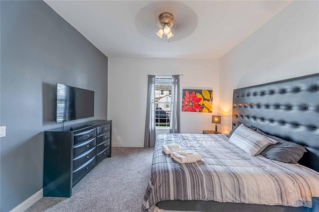
[[[172,75],[169,133],[180,133],[179,75]]]

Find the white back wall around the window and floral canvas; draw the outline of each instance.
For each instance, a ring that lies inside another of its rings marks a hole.
[[[180,112],[181,133],[213,129],[218,114],[219,61],[216,59],[109,58],[108,119],[113,120],[112,146],[143,147],[148,74],[180,76],[183,88],[212,88],[213,113]],[[182,97],[181,97],[182,98]]]

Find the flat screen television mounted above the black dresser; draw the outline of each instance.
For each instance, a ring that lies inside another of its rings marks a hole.
[[[94,116],[94,91],[56,84],[56,123]]]

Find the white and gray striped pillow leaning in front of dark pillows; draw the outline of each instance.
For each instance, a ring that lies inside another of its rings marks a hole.
[[[249,129],[244,124],[237,127],[229,141],[252,156],[258,155],[269,145],[278,142]]]

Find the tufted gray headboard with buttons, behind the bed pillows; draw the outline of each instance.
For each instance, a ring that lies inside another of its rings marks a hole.
[[[306,146],[299,163],[319,172],[319,73],[235,89],[232,122]]]

